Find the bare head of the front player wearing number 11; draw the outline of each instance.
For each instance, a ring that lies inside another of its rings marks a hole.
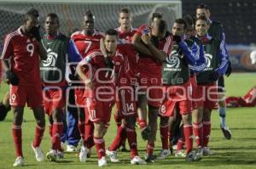
[[[104,45],[108,53],[113,54],[118,44],[118,31],[109,29],[105,32]]]

